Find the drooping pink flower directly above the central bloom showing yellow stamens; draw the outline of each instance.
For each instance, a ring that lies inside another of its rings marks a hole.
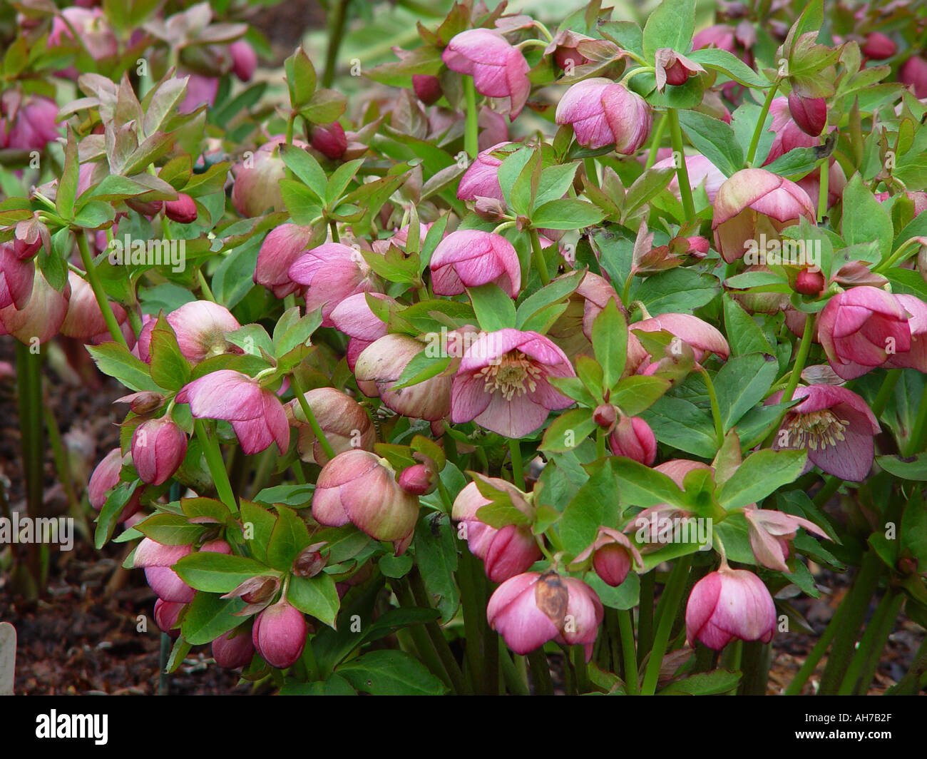
[[[502,235],[463,229],[451,232],[431,256],[431,283],[436,295],[460,295],[465,288],[495,282],[510,297],[521,289],[521,264]]]

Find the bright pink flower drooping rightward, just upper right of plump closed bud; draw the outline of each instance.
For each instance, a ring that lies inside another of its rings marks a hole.
[[[175,400],[189,404],[195,418],[228,421],[246,454],[260,453],[273,443],[286,453],[289,425],[284,406],[273,391],[247,374],[233,369],[210,372],[184,385]]]

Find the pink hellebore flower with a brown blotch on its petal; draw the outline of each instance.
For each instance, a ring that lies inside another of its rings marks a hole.
[[[602,601],[589,585],[556,572],[516,574],[496,588],[486,608],[489,626],[515,653],[556,640],[583,646],[586,661],[603,616]]]

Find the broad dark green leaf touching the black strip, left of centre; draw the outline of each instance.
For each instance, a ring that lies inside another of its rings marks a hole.
[[[374,696],[440,696],[447,688],[405,651],[376,650],[341,664],[337,674]]]

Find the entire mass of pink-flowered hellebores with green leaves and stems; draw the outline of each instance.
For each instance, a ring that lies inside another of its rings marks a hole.
[[[927,622],[922,4],[696,33],[694,0],[552,29],[463,0],[348,71],[332,3],[318,74],[258,71],[227,4],[27,5],[27,508],[44,358],[89,354],[128,411],[80,490],[165,671],[210,645],[284,693],[866,693]],[[815,629],[794,597],[840,573]]]

